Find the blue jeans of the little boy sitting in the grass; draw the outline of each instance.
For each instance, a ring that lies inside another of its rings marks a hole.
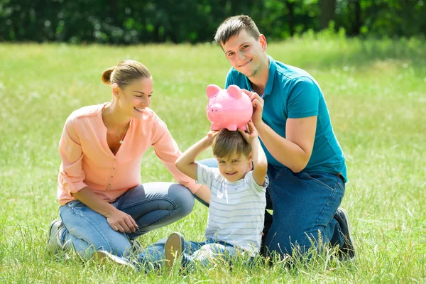
[[[166,241],[167,238],[160,239],[139,253],[136,260],[139,270],[148,273],[162,266],[165,261],[164,246]],[[223,241],[214,241],[211,239],[202,242],[185,241],[185,250],[182,253],[182,268],[186,267],[192,270],[196,263],[199,263],[201,266],[207,266],[212,259],[217,258],[230,263],[232,259],[242,256],[241,252],[241,249],[231,244],[226,244]],[[249,258],[250,260],[251,258]]]

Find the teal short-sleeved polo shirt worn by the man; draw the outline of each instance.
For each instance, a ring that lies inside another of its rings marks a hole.
[[[263,94],[265,102],[263,121],[285,138],[287,119],[317,116],[314,148],[310,160],[302,172],[341,174],[347,181],[344,154],[334,135],[329,111],[320,86],[305,70],[275,61],[271,56],[268,58],[269,75]],[[231,84],[253,92],[249,79],[234,68],[228,72],[225,87],[227,88]],[[268,163],[285,167],[273,158],[262,141],[261,144]]]

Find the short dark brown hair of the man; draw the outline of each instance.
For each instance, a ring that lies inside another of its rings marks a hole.
[[[259,35],[261,35],[256,23],[254,23],[249,16],[239,15],[226,18],[226,20],[220,24],[219,28],[217,28],[214,40],[216,40],[218,45],[222,46],[229,38],[239,35],[243,29],[256,40],[259,38]]]

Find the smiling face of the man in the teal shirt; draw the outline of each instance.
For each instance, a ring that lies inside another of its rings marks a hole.
[[[245,29],[222,45],[231,66],[247,77],[256,76],[266,58],[266,39],[253,38]]]

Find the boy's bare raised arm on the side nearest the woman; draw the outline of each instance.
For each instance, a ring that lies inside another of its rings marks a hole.
[[[182,153],[178,160],[176,160],[176,167],[188,177],[197,180],[197,164],[195,163],[195,159],[202,151],[212,145],[213,138],[217,135],[217,132],[210,131],[207,136]]]

